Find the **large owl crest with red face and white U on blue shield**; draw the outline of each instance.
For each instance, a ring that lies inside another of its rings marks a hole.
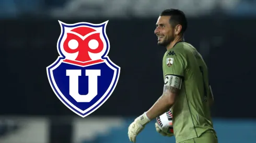
[[[46,68],[56,96],[66,107],[85,117],[97,110],[118,83],[120,67],[107,56],[108,21],[100,24],[61,21],[57,42],[59,58]]]

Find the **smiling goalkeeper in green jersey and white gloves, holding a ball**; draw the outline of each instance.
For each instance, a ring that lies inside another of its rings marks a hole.
[[[210,114],[213,94],[207,67],[197,50],[183,41],[186,29],[187,20],[182,11],[167,9],[161,12],[155,34],[158,45],[167,49],[162,59],[164,92],[152,108],[129,126],[128,136],[132,142],[150,120],[169,109],[177,143],[218,142]],[[159,128],[157,131],[162,133]]]

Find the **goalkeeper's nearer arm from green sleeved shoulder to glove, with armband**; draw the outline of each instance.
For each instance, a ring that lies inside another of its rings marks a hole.
[[[173,54],[164,57],[166,58],[166,64],[163,66],[163,71],[165,73],[164,92],[147,111],[146,115],[150,120],[167,112],[172,107],[176,96],[179,94],[184,79],[185,68],[187,66],[186,56],[184,52],[179,49],[182,48],[171,50],[170,52]]]

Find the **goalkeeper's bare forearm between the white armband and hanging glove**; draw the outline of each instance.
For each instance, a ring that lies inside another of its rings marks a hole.
[[[147,111],[147,117],[152,120],[168,111],[175,102],[176,96],[179,94],[179,89],[173,86],[165,85],[162,96],[155,104]]]

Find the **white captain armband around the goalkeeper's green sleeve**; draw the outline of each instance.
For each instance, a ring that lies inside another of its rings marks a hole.
[[[181,83],[182,83],[182,77],[179,75],[169,74],[165,76],[165,85],[167,86],[172,86],[180,89]]]

